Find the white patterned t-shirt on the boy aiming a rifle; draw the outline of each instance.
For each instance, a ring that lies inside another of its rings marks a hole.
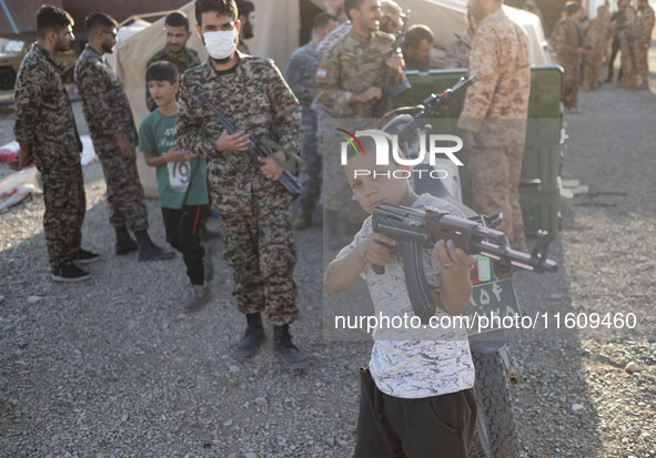
[[[436,206],[441,211],[462,216],[444,200],[422,194],[413,208]],[[343,257],[372,233],[372,218],[367,217],[351,244],[340,252]],[[424,253],[424,269],[431,286],[437,285],[440,263],[432,251]],[[385,266],[385,273],[375,274],[371,264],[364,276],[376,316],[414,316],[401,257],[395,254]],[[438,318],[447,314],[440,308]],[[456,393],[474,386],[474,364],[470,353],[466,329],[458,326],[440,329],[381,329],[374,330],[374,345],[370,372],[379,389],[398,398],[423,398]]]

